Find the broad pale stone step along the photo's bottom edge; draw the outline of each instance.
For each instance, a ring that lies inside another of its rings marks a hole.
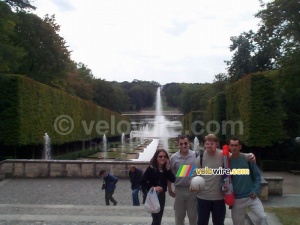
[[[151,215],[143,206],[0,204],[0,224],[2,221],[22,225],[142,225],[151,223]],[[174,210],[166,206],[162,225],[171,224],[174,224]],[[231,218],[226,218],[225,224],[232,224]]]

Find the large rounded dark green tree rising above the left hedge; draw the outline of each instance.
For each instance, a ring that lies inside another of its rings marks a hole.
[[[26,57],[15,73],[25,74],[34,80],[63,88],[70,63],[70,52],[65,40],[59,36],[55,16],[42,20],[34,14],[18,13],[15,44],[26,51]]]

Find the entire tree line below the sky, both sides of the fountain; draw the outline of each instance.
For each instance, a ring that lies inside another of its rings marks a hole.
[[[247,74],[276,71],[278,91],[289,136],[300,133],[300,3],[276,0],[255,15],[258,30],[230,38],[227,73],[212,83],[168,83],[163,87],[168,106],[184,114],[205,110],[208,100]],[[28,0],[0,1],[0,74],[23,74],[71,95],[116,112],[141,110],[153,105],[159,83],[155,81],[108,82],[96,78],[82,62],[70,58],[66,41],[59,36],[55,16],[39,18]],[[268,88],[268,87],[265,87]]]

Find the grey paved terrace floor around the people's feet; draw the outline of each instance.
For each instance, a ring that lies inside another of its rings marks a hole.
[[[283,196],[269,197],[269,200],[264,202],[265,206],[300,207],[299,175],[289,173],[267,175],[283,176],[284,189]],[[117,206],[105,206],[101,185],[102,181],[99,178],[5,179],[0,182],[0,225],[151,223],[151,216],[144,211],[143,206],[131,206],[128,179],[120,179],[118,182],[115,192]],[[175,224],[173,203],[174,199],[168,196],[163,225]],[[274,215],[267,214],[267,216],[269,224],[280,224]],[[227,210],[225,224],[232,224],[230,210]]]

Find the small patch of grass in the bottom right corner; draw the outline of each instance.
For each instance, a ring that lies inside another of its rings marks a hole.
[[[275,213],[282,225],[300,225],[300,208],[265,208],[266,212]]]

